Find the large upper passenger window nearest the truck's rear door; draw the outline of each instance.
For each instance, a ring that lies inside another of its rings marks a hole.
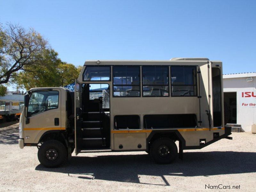
[[[172,96],[189,97],[197,95],[196,67],[171,66]]]

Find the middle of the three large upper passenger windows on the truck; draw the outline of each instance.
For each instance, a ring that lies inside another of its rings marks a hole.
[[[143,66],[143,97],[168,97],[168,66]]]

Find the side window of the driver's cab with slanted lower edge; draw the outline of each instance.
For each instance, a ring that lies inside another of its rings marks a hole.
[[[28,116],[36,115],[50,109],[58,108],[59,92],[58,91],[37,91],[30,95],[28,105]]]

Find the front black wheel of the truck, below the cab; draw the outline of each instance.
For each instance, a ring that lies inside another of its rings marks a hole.
[[[45,167],[58,167],[67,161],[67,149],[58,140],[48,140],[39,147],[37,156]]]

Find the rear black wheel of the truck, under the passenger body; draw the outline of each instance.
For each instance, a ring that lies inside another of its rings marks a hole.
[[[169,138],[159,138],[150,147],[150,155],[157,164],[170,164],[178,154],[176,144]]]

